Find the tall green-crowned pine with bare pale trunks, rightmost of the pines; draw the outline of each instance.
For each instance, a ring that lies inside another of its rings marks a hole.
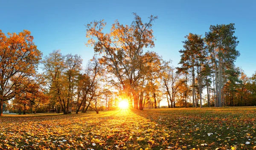
[[[233,63],[239,57],[236,46],[239,41],[234,36],[234,23],[228,25],[211,25],[210,31],[205,34],[206,44],[214,65],[215,76],[215,106],[221,107],[224,104],[222,99],[225,71],[234,66]]]

